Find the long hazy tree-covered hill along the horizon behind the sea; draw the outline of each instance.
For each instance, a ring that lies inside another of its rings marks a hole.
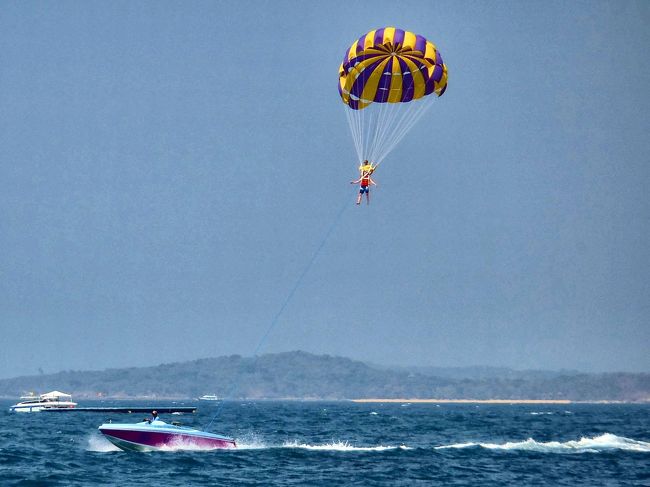
[[[503,368],[386,368],[305,352],[231,355],[104,371],[0,380],[0,396],[58,389],[76,398],[568,399],[650,402],[650,374],[584,374]]]

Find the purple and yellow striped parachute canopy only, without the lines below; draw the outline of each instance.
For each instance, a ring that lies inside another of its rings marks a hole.
[[[354,41],[339,67],[343,103],[406,103],[447,88],[447,66],[424,37],[395,27],[371,30]]]

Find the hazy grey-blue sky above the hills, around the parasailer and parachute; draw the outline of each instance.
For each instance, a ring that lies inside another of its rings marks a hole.
[[[387,25],[449,87],[356,207],[338,66]],[[648,25],[647,1],[3,1],[0,377],[251,355],[330,230],[261,353],[650,371]]]

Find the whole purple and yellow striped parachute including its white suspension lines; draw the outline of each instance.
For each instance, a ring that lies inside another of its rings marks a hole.
[[[447,66],[421,35],[384,27],[348,48],[338,88],[359,162],[376,167],[445,92]]]

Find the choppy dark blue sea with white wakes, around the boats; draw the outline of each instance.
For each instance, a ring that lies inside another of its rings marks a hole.
[[[135,453],[97,427],[142,414],[16,414],[10,404],[0,413],[2,486],[650,486],[650,405],[201,402],[163,420],[203,428],[218,413],[210,430],[238,449]]]

